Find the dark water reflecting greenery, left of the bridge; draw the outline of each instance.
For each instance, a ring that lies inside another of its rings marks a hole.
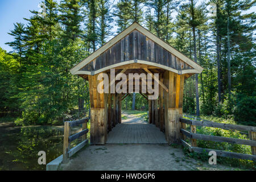
[[[46,163],[63,152],[62,126],[14,127],[0,123],[0,171],[46,170],[38,164],[38,152],[46,152]]]

